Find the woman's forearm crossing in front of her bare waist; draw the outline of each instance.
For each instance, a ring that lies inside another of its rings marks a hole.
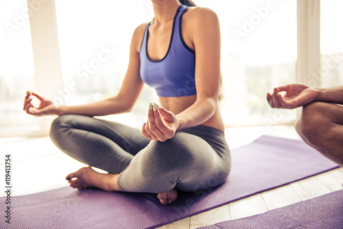
[[[178,117],[178,130],[191,128],[213,117],[217,108],[217,101],[212,98],[197,100],[192,106],[176,115]]]

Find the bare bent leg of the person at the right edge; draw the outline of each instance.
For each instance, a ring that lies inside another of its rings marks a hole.
[[[303,107],[296,131],[306,143],[343,166],[343,107],[314,102]]]

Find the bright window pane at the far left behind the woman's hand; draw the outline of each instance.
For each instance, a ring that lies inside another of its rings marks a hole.
[[[25,92],[34,90],[34,60],[27,1],[0,1],[0,133],[39,130],[38,119],[23,109]]]

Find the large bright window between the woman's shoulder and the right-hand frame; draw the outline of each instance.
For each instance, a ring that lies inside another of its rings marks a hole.
[[[265,99],[296,82],[296,0],[196,1],[215,12],[222,33],[222,113],[228,126],[276,125],[296,117]]]

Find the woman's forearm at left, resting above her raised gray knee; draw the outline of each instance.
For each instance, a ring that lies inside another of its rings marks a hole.
[[[121,101],[117,97],[110,97],[102,101],[97,101],[91,104],[77,106],[59,106],[58,115],[87,115],[87,116],[102,116],[113,115],[124,112],[129,112],[131,106],[128,103]]]

